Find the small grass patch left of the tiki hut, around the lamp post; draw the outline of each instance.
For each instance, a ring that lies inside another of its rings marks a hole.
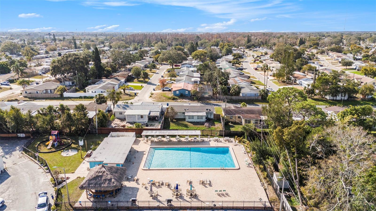
[[[68,192],[69,192],[69,199],[71,201],[78,201],[83,193],[83,190],[80,190],[78,186],[82,183],[85,177],[78,177],[73,179],[72,181],[68,182]],[[63,201],[63,194],[64,194],[64,201],[68,201],[67,198],[67,188],[65,185],[58,189],[58,202]]]

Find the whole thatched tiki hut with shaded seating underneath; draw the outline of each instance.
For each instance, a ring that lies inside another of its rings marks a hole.
[[[111,196],[115,198],[121,191],[126,170],[125,167],[104,164],[96,166],[90,169],[79,188],[86,190],[86,198],[102,199]]]

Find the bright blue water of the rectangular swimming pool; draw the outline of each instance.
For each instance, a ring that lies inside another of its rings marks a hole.
[[[152,147],[144,168],[235,168],[228,147]]]

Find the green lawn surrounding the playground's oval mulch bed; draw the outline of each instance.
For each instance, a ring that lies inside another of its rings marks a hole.
[[[102,142],[102,140],[107,136],[108,134],[100,134],[100,135],[87,134],[84,140],[86,141],[89,149],[95,150],[97,149],[99,144]],[[78,153],[71,155],[71,156],[64,157],[61,155],[61,152],[64,150],[62,149],[57,152],[39,153],[39,156],[44,158],[47,161],[51,169],[53,169],[53,166],[64,167],[65,173],[74,173],[77,167],[82,163],[82,158],[81,158],[79,145],[78,145],[78,140],[82,139],[82,137],[68,136],[68,138],[72,140],[72,145],[68,146],[65,149],[78,149]],[[48,136],[38,137],[27,148],[31,150],[32,152],[36,152],[36,145],[38,145],[39,142],[47,140],[47,139],[48,139]],[[84,156],[86,152],[87,150],[85,149],[85,144],[84,144],[82,146],[82,156]]]

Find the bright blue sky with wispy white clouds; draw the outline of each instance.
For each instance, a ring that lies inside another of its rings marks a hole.
[[[376,31],[376,1],[0,1],[3,32],[312,32],[344,28]]]

